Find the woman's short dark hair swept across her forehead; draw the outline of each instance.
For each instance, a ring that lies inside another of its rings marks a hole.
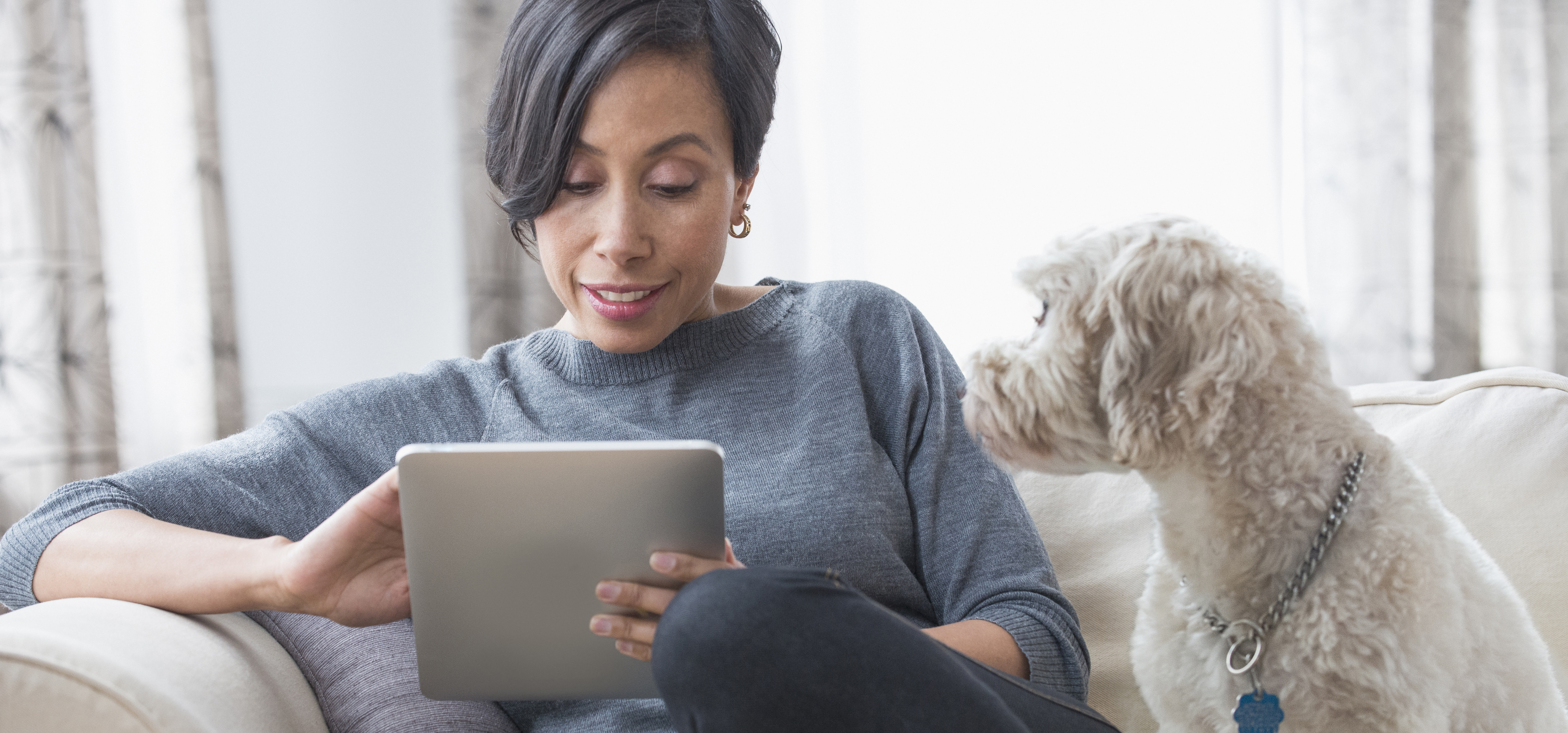
[[[533,219],[561,190],[588,97],[643,50],[707,58],[729,117],[735,175],[756,172],[781,55],[759,0],[524,0],[502,47],[485,168],[511,235],[530,254]]]

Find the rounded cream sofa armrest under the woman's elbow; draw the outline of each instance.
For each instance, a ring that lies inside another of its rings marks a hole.
[[[0,731],[326,733],[304,675],[243,614],[67,598],[0,616]]]

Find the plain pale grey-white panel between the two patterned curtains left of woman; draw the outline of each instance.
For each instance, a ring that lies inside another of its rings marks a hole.
[[[209,3],[246,424],[463,356],[448,5]]]

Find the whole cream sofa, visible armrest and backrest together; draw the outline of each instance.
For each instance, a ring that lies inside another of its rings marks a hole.
[[[1358,412],[1432,476],[1497,559],[1568,670],[1568,377],[1493,370],[1352,388]],[[1019,492],[1077,606],[1090,703],[1126,731],[1156,728],[1127,637],[1149,554],[1135,475],[1022,475]],[[75,598],[0,616],[0,733],[325,731],[289,655],[240,614],[183,617]]]

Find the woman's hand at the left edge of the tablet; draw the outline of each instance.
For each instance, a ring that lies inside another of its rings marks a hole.
[[[282,548],[276,594],[273,606],[281,611],[325,616],[345,626],[408,619],[397,467]]]

